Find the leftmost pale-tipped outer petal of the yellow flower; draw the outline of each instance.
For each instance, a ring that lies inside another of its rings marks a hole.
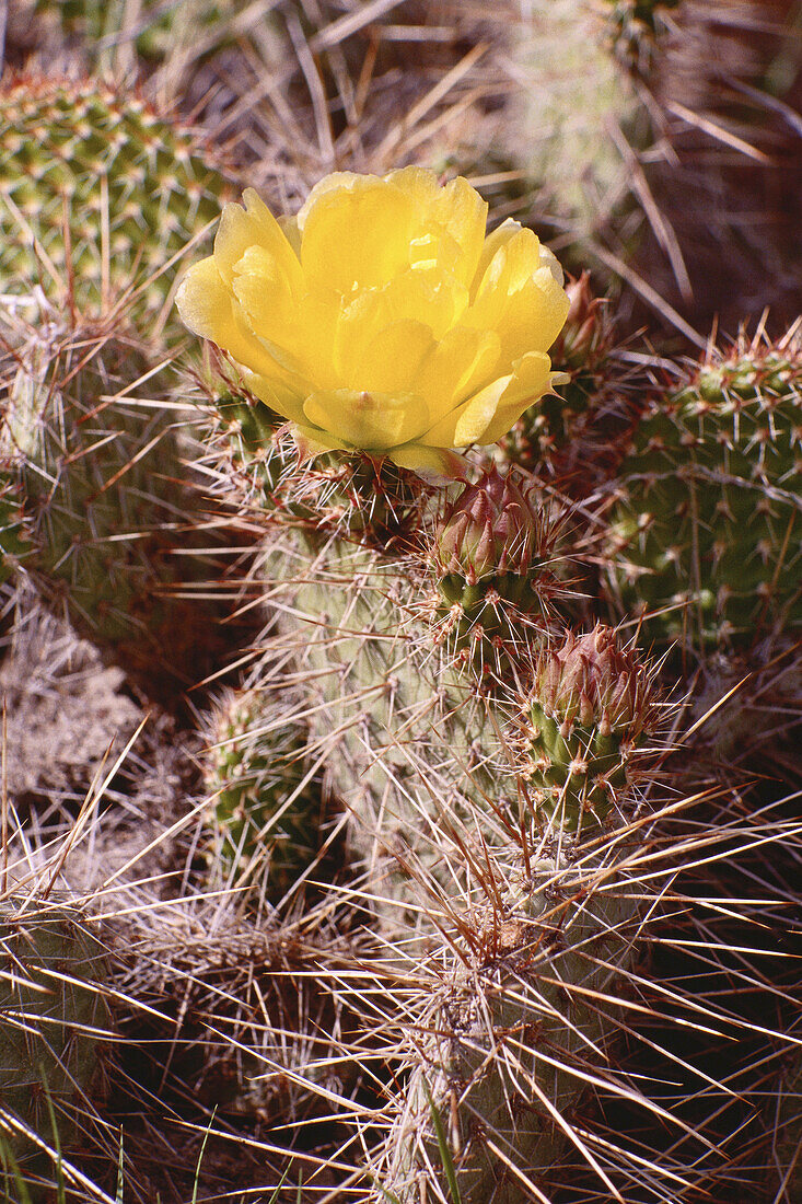
[[[220,278],[213,255],[189,268],[178,287],[176,306],[181,320],[193,334],[208,338],[238,364],[266,377],[281,371],[248,327],[238,301]]]

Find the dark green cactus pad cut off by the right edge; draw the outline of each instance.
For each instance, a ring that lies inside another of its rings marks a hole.
[[[798,341],[739,347],[651,397],[612,488],[608,555],[643,638],[698,653],[802,621]]]

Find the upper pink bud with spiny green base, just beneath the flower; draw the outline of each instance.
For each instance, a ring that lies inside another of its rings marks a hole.
[[[447,507],[435,535],[437,590],[458,647],[548,630],[564,588],[554,572],[556,532],[539,502],[523,477],[494,466]]]

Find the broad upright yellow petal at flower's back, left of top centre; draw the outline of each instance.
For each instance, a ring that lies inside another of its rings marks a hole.
[[[412,220],[409,197],[375,176],[322,191],[302,224],[299,216],[307,284],[344,295],[384,284],[409,261]]]

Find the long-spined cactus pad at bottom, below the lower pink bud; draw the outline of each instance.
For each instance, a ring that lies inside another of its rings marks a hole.
[[[536,849],[526,873],[494,864],[500,897],[461,916],[465,948],[443,946],[444,968],[418,996],[411,1078],[371,1199],[417,1204],[449,1188],[462,1204],[538,1198],[592,1078],[588,1055],[615,1031],[635,916],[614,861],[560,864]]]

